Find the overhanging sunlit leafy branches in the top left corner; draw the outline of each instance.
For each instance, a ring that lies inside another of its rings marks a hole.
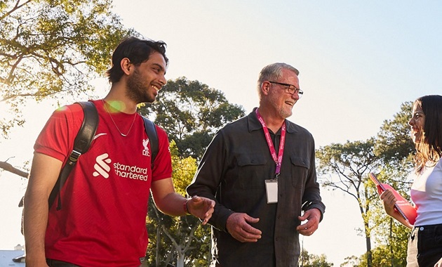
[[[93,90],[119,41],[137,35],[111,9],[112,0],[0,1],[0,102],[14,115],[0,120],[3,136],[24,122],[26,98]]]

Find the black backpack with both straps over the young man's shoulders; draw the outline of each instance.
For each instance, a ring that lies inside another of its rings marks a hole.
[[[74,149],[70,153],[67,162],[65,164],[65,167],[63,167],[63,169],[60,171],[60,175],[58,176],[57,182],[55,183],[54,188],[51,191],[51,195],[49,195],[48,199],[49,209],[51,209],[53,202],[55,201],[55,197],[57,196],[58,196],[57,210],[61,209],[61,197],[60,197],[61,188],[65,184],[66,179],[69,176],[69,173],[74,168],[81,154],[86,153],[90,148],[91,143],[93,141],[93,137],[95,136],[95,131],[97,131],[98,112],[97,108],[95,108],[95,105],[89,101],[77,102],[77,104],[81,105],[81,108],[83,108],[84,112],[83,123],[81,124],[79,132],[76,134],[74,140]],[[150,147],[152,150],[151,166],[153,169],[154,159],[158,154],[158,136],[156,134],[155,124],[144,116],[142,116],[142,118],[145,122],[145,131],[150,140]]]

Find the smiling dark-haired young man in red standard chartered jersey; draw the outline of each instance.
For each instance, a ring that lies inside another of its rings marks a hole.
[[[207,223],[214,202],[175,193],[168,137],[156,126],[159,152],[152,150],[139,103],[152,103],[166,84],[168,58],[161,41],[121,41],[107,71],[107,96],[92,100],[99,123],[91,148],[79,157],[60,191],[62,209],[48,196],[83,122],[79,105],[53,113],[34,145],[25,194],[26,264],[33,266],[140,266],[147,248],[149,190],[165,214],[189,212]]]

